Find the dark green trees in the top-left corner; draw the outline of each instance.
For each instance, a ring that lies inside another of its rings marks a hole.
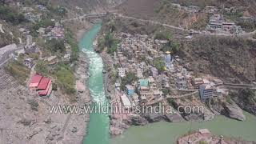
[[[17,10],[13,10],[8,6],[0,6],[0,19],[18,25],[21,22],[26,22],[23,14],[18,14]]]

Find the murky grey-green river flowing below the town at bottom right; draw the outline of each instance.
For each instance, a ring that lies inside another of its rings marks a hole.
[[[118,137],[111,139],[111,144],[155,144],[175,143],[182,135],[190,130],[208,129],[212,134],[223,135],[230,138],[242,138],[246,141],[256,141],[254,125],[256,118],[245,112],[246,121],[241,122],[216,116],[208,122],[154,122],[146,126],[130,126],[128,130]]]

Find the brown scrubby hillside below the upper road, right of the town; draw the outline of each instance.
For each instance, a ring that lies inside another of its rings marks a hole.
[[[190,69],[240,82],[256,80],[256,42],[242,38],[198,37],[182,42]]]

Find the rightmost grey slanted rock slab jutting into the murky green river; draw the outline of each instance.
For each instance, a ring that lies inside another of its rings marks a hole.
[[[230,105],[229,103],[224,103],[224,113],[226,116],[237,119],[239,121],[245,121],[246,117],[242,114],[242,109],[236,105]]]

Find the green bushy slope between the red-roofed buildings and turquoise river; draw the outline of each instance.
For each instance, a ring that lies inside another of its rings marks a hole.
[[[59,65],[56,71],[56,77],[58,86],[66,93],[66,94],[74,94],[74,84],[75,84],[75,77],[73,71],[70,70],[69,66],[66,65]]]

